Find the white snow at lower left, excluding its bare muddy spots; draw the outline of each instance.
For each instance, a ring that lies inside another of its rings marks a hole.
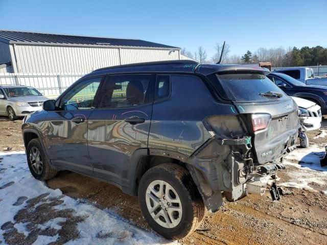
[[[25,152],[0,152],[0,157],[3,158],[0,162],[0,168],[6,168],[0,174],[0,187],[4,187],[9,182],[14,182],[5,188],[0,188],[0,226],[6,222],[15,224],[15,214],[26,206],[26,202],[13,206],[19,197],[31,199],[45,192],[50,193],[47,198],[62,195],[59,189],[50,189],[44,182],[37,181],[32,177],[27,165]],[[152,232],[135,227],[110,210],[102,210],[84,201],[75,200],[65,195],[60,200],[63,203],[55,206],[55,209],[73,209],[74,216],[86,217],[84,221],[78,223],[80,237],[69,241],[67,244],[176,244]],[[64,220],[65,218],[54,218],[49,222],[38,225],[38,227],[40,229],[61,229],[58,223]],[[26,224],[16,223],[14,227],[19,232],[28,235],[29,232],[26,230]],[[2,244],[5,244],[4,232],[0,229],[0,241],[3,242]],[[99,237],[99,234],[105,235]],[[37,240],[33,244],[48,244],[56,241],[58,237],[58,234],[52,237],[38,235]]]

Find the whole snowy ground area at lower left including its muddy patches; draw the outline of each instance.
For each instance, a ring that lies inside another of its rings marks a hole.
[[[106,209],[63,195],[30,174],[25,152],[0,153],[0,243],[170,243]]]

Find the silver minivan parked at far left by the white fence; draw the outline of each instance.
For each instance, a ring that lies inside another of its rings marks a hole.
[[[33,87],[0,85],[0,115],[8,115],[10,120],[42,110],[46,100],[48,98]]]

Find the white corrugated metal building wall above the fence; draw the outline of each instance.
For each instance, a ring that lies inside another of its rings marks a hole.
[[[15,72],[88,73],[101,67],[136,62],[178,60],[179,51],[146,48],[103,48],[52,45],[14,45]],[[169,54],[170,53],[170,54]]]

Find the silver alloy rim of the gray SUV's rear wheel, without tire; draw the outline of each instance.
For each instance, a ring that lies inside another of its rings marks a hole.
[[[165,228],[176,227],[182,217],[182,205],[176,190],[163,180],[151,182],[146,192],[146,204],[152,218]]]

